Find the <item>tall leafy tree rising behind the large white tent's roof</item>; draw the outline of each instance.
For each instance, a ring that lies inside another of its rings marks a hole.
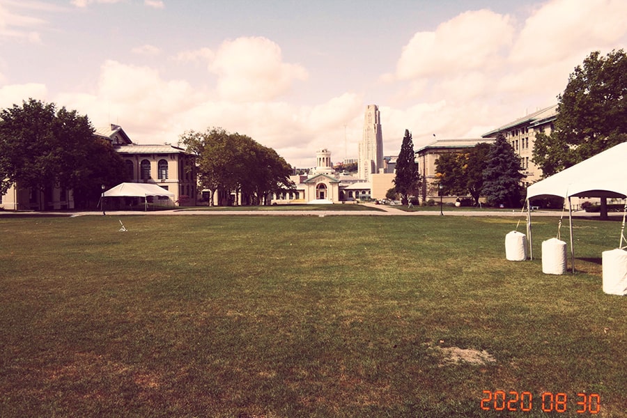
[[[592,52],[568,77],[557,96],[550,134],[538,134],[533,161],[551,176],[627,141],[627,55]]]

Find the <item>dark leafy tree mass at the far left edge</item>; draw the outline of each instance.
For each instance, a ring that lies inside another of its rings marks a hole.
[[[100,185],[125,180],[121,157],[93,136],[87,116],[29,99],[0,111],[0,192],[18,183],[44,192],[72,189],[77,208],[97,202]]]

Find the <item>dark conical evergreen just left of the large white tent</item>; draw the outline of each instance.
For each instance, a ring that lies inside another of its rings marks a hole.
[[[520,206],[520,180],[525,178],[521,171],[518,156],[503,134],[498,134],[490,146],[486,169],[483,170],[482,192],[488,203],[509,208]]]

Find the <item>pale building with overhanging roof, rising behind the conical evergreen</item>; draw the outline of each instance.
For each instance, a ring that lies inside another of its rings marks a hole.
[[[550,134],[555,118],[557,118],[557,104],[506,123],[481,136],[483,138],[496,138],[498,134],[503,134],[520,158],[522,173],[527,176],[522,181],[525,185],[530,185],[542,178],[542,170],[532,162],[536,134],[539,132]]]

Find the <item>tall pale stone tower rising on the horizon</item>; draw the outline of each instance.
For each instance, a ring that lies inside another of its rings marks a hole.
[[[376,104],[366,107],[364,116],[364,136],[359,142],[359,178],[371,181],[372,174],[383,168],[383,134],[381,115]]]

